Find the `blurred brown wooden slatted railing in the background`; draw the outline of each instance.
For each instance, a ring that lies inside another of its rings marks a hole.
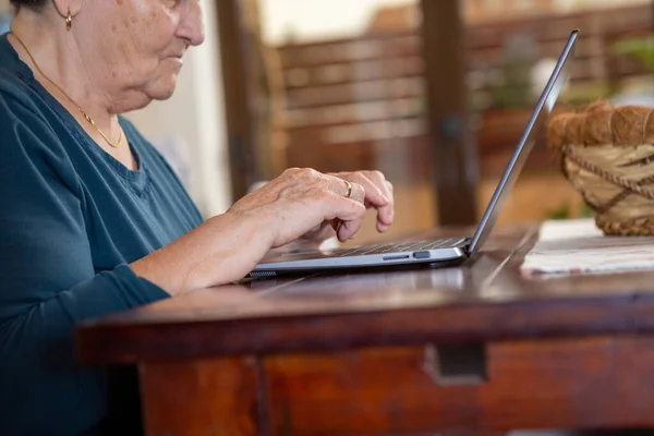
[[[481,171],[495,174],[524,125],[523,106],[493,101],[492,80],[510,53],[507,41],[523,35],[534,59],[556,58],[572,28],[580,39],[572,85],[598,85],[643,74],[643,66],[613,55],[615,40],[652,31],[652,8],[547,15],[477,24],[468,29],[471,106],[477,108],[476,140]],[[447,41],[444,41],[447,44]],[[362,35],[277,48],[283,76],[284,112],[277,130],[286,134],[287,165],[320,170],[378,167],[379,153],[399,147],[412,177],[429,178],[421,38],[415,32]],[[618,65],[619,68],[617,68]],[[600,95],[597,95],[600,97]],[[502,129],[498,129],[502,125]],[[541,149],[542,152],[542,149]],[[538,153],[538,152],[536,152]],[[392,154],[392,153],[391,153]],[[537,167],[544,159],[535,159]]]

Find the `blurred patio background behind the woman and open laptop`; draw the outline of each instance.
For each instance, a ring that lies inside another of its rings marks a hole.
[[[474,225],[573,28],[557,110],[654,106],[651,0],[202,2],[207,44],[172,101],[130,118],[206,216],[288,167],[379,169],[396,186],[390,237]],[[8,0],[0,11],[2,32]],[[586,214],[542,136],[500,222]]]

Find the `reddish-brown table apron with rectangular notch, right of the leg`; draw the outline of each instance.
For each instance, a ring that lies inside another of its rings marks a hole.
[[[654,425],[654,391],[643,388],[654,382],[653,344],[628,337],[494,343],[488,380],[461,386],[434,383],[424,347],[272,356],[266,360],[272,434]],[[635,349],[647,351],[625,359]],[[629,376],[644,372],[645,378]]]

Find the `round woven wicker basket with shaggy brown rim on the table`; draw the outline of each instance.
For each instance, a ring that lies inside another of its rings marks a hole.
[[[600,101],[548,123],[548,147],[605,234],[654,234],[653,111]]]

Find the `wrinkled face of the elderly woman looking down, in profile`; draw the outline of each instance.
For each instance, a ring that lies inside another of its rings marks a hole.
[[[186,48],[204,40],[199,0],[84,2],[76,24],[93,40],[77,44],[96,80],[144,104],[172,95]]]

